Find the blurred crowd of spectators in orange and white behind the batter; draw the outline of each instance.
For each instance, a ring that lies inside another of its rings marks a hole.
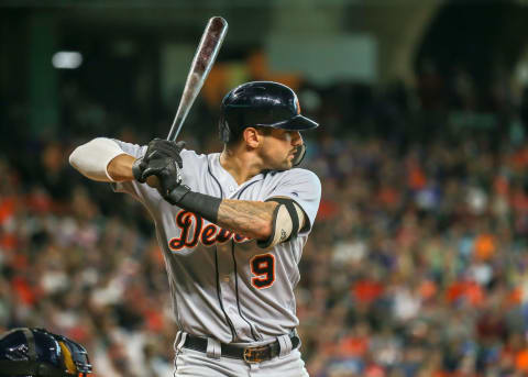
[[[299,88],[321,123],[306,135],[322,201],[297,288],[314,377],[528,375],[526,103],[501,75],[486,88],[459,68],[446,77],[425,65],[414,87]],[[170,376],[176,328],[148,214],[67,164],[91,137],[148,138],[76,103],[59,135],[21,126],[0,158],[0,330],[63,333],[97,376]],[[212,130],[215,110],[198,109],[189,122]],[[186,132],[190,147],[220,148],[215,132]]]

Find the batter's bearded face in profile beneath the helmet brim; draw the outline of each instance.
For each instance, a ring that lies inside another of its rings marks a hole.
[[[273,129],[264,135],[261,156],[265,168],[287,170],[294,166],[297,147],[302,145],[302,136],[298,131]]]

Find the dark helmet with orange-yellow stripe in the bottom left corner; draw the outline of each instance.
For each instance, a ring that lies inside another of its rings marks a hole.
[[[14,329],[0,337],[2,377],[89,377],[91,365],[80,344],[44,329]]]

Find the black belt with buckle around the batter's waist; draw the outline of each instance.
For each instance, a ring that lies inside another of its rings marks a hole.
[[[292,350],[297,348],[300,344],[300,339],[297,335],[290,335],[289,339],[292,340]],[[248,363],[266,362],[278,356],[280,353],[280,344],[278,341],[253,347],[242,347],[240,345],[226,343],[220,343],[220,345],[222,350],[222,356],[241,358]],[[184,347],[207,353],[207,339],[187,334]]]

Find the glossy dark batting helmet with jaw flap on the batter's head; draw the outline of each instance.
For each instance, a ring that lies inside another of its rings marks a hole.
[[[242,84],[226,95],[220,109],[219,131],[224,143],[249,126],[304,131],[318,125],[300,114],[299,100],[290,88],[273,81]]]

